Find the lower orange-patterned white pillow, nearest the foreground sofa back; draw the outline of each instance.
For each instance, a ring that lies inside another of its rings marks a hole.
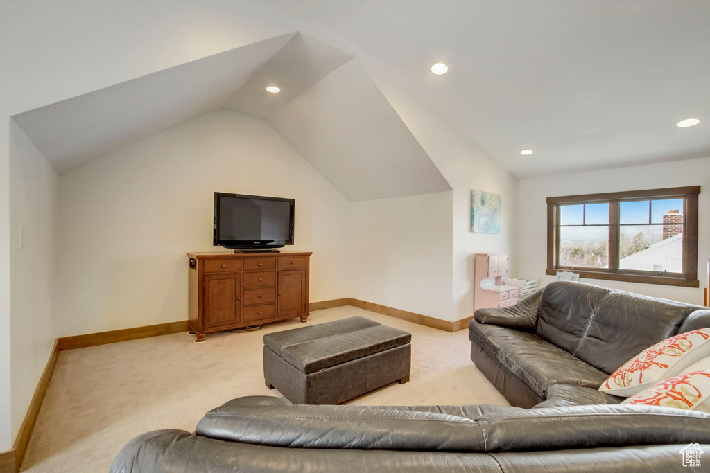
[[[710,413],[710,357],[682,374],[657,382],[621,404],[675,407]]]

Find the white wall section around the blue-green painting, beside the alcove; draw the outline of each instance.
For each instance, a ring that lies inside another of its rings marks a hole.
[[[452,286],[450,316],[474,313],[474,253],[509,252],[515,276],[518,251],[518,179],[471,143],[471,140],[408,92],[388,82],[376,69],[368,72],[422,148],[452,187]],[[501,194],[501,233],[471,233],[471,191]],[[422,275],[422,277],[425,277]]]

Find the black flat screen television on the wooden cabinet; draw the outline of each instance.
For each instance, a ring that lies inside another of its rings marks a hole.
[[[293,245],[295,201],[214,193],[213,245],[268,250]]]

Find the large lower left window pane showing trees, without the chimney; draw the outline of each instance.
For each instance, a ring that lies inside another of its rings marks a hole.
[[[559,228],[559,265],[577,267],[608,267],[609,228]]]

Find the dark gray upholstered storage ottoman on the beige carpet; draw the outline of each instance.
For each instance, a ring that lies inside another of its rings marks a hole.
[[[409,381],[412,335],[364,317],[264,335],[264,379],[294,404],[339,404]]]

